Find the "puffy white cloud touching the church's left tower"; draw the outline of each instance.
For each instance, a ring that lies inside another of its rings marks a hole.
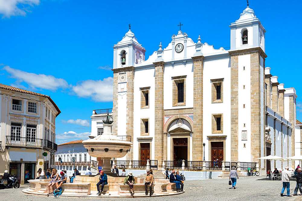
[[[108,77],[103,80],[79,81],[72,86],[72,90],[77,96],[82,98],[92,98],[96,102],[112,101],[113,78]]]

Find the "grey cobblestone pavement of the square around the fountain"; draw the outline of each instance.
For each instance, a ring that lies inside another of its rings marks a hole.
[[[281,181],[264,180],[265,177],[246,177],[237,180],[236,189],[230,188],[228,178],[219,178],[211,180],[191,180],[185,181],[185,193],[174,196],[162,196],[151,198],[74,198],[59,197],[64,201],[80,201],[80,200],[302,200],[302,196],[281,197],[282,188]],[[296,181],[290,182],[291,195],[294,193]],[[19,189],[3,189],[0,190],[0,200],[53,200],[53,196],[37,196],[23,193],[21,190],[27,188],[28,185],[21,185]],[[286,190],[284,192],[286,194]]]

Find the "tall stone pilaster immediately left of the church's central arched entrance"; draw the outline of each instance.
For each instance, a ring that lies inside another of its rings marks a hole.
[[[155,111],[154,111],[154,158],[158,164],[163,160],[164,137],[164,65],[165,62],[155,62]]]

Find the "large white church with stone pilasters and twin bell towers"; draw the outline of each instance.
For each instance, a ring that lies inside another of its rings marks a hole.
[[[264,27],[247,7],[230,31],[230,50],[181,30],[147,60],[131,30],[114,45],[113,133],[133,142],[125,159],[258,161],[265,170],[276,164],[257,158],[295,155],[297,95],[265,67]]]

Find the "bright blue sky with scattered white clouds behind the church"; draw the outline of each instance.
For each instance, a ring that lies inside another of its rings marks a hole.
[[[300,1],[249,1],[266,29],[266,67],[285,88],[300,87]],[[246,1],[0,0],[0,83],[50,95],[62,113],[56,142],[84,139],[94,109],[112,108],[113,45],[131,30],[146,59],[171,41],[178,24],[218,49]]]

